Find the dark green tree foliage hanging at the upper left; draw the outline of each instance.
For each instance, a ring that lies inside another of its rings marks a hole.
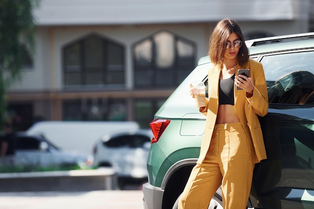
[[[33,9],[38,5],[38,0],[0,0],[0,129],[5,121],[6,89],[21,75],[24,49],[34,53]]]

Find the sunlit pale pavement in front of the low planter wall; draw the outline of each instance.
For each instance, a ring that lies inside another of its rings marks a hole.
[[[143,209],[141,190],[0,192],[0,209]]]

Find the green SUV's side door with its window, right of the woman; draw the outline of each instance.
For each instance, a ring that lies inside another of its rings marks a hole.
[[[265,54],[269,111],[260,118],[267,159],[254,169],[251,201],[314,208],[314,51]]]

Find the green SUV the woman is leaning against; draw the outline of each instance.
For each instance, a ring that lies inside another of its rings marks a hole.
[[[260,118],[267,159],[255,165],[249,208],[314,208],[314,33],[246,42],[250,57],[261,62],[269,110]],[[196,164],[205,116],[190,96],[190,83],[207,84],[209,57],[182,82],[156,112],[143,184],[145,209],[178,207]],[[211,197],[208,197],[211,198]],[[222,208],[218,189],[209,207]]]

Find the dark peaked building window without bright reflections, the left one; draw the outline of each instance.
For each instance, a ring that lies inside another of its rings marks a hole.
[[[63,48],[64,86],[66,88],[124,87],[124,47],[97,35]]]

